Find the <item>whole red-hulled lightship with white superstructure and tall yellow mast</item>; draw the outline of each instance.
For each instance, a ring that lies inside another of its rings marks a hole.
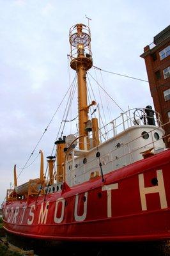
[[[47,157],[49,179],[42,151],[40,178],[17,186],[15,166],[15,188],[8,189],[2,205],[4,229],[56,241],[168,240],[170,150],[164,125],[150,106],[128,109],[104,127],[89,117],[98,103],[87,97],[90,42],[88,26],[70,29],[79,133],[56,141],[56,155]]]

